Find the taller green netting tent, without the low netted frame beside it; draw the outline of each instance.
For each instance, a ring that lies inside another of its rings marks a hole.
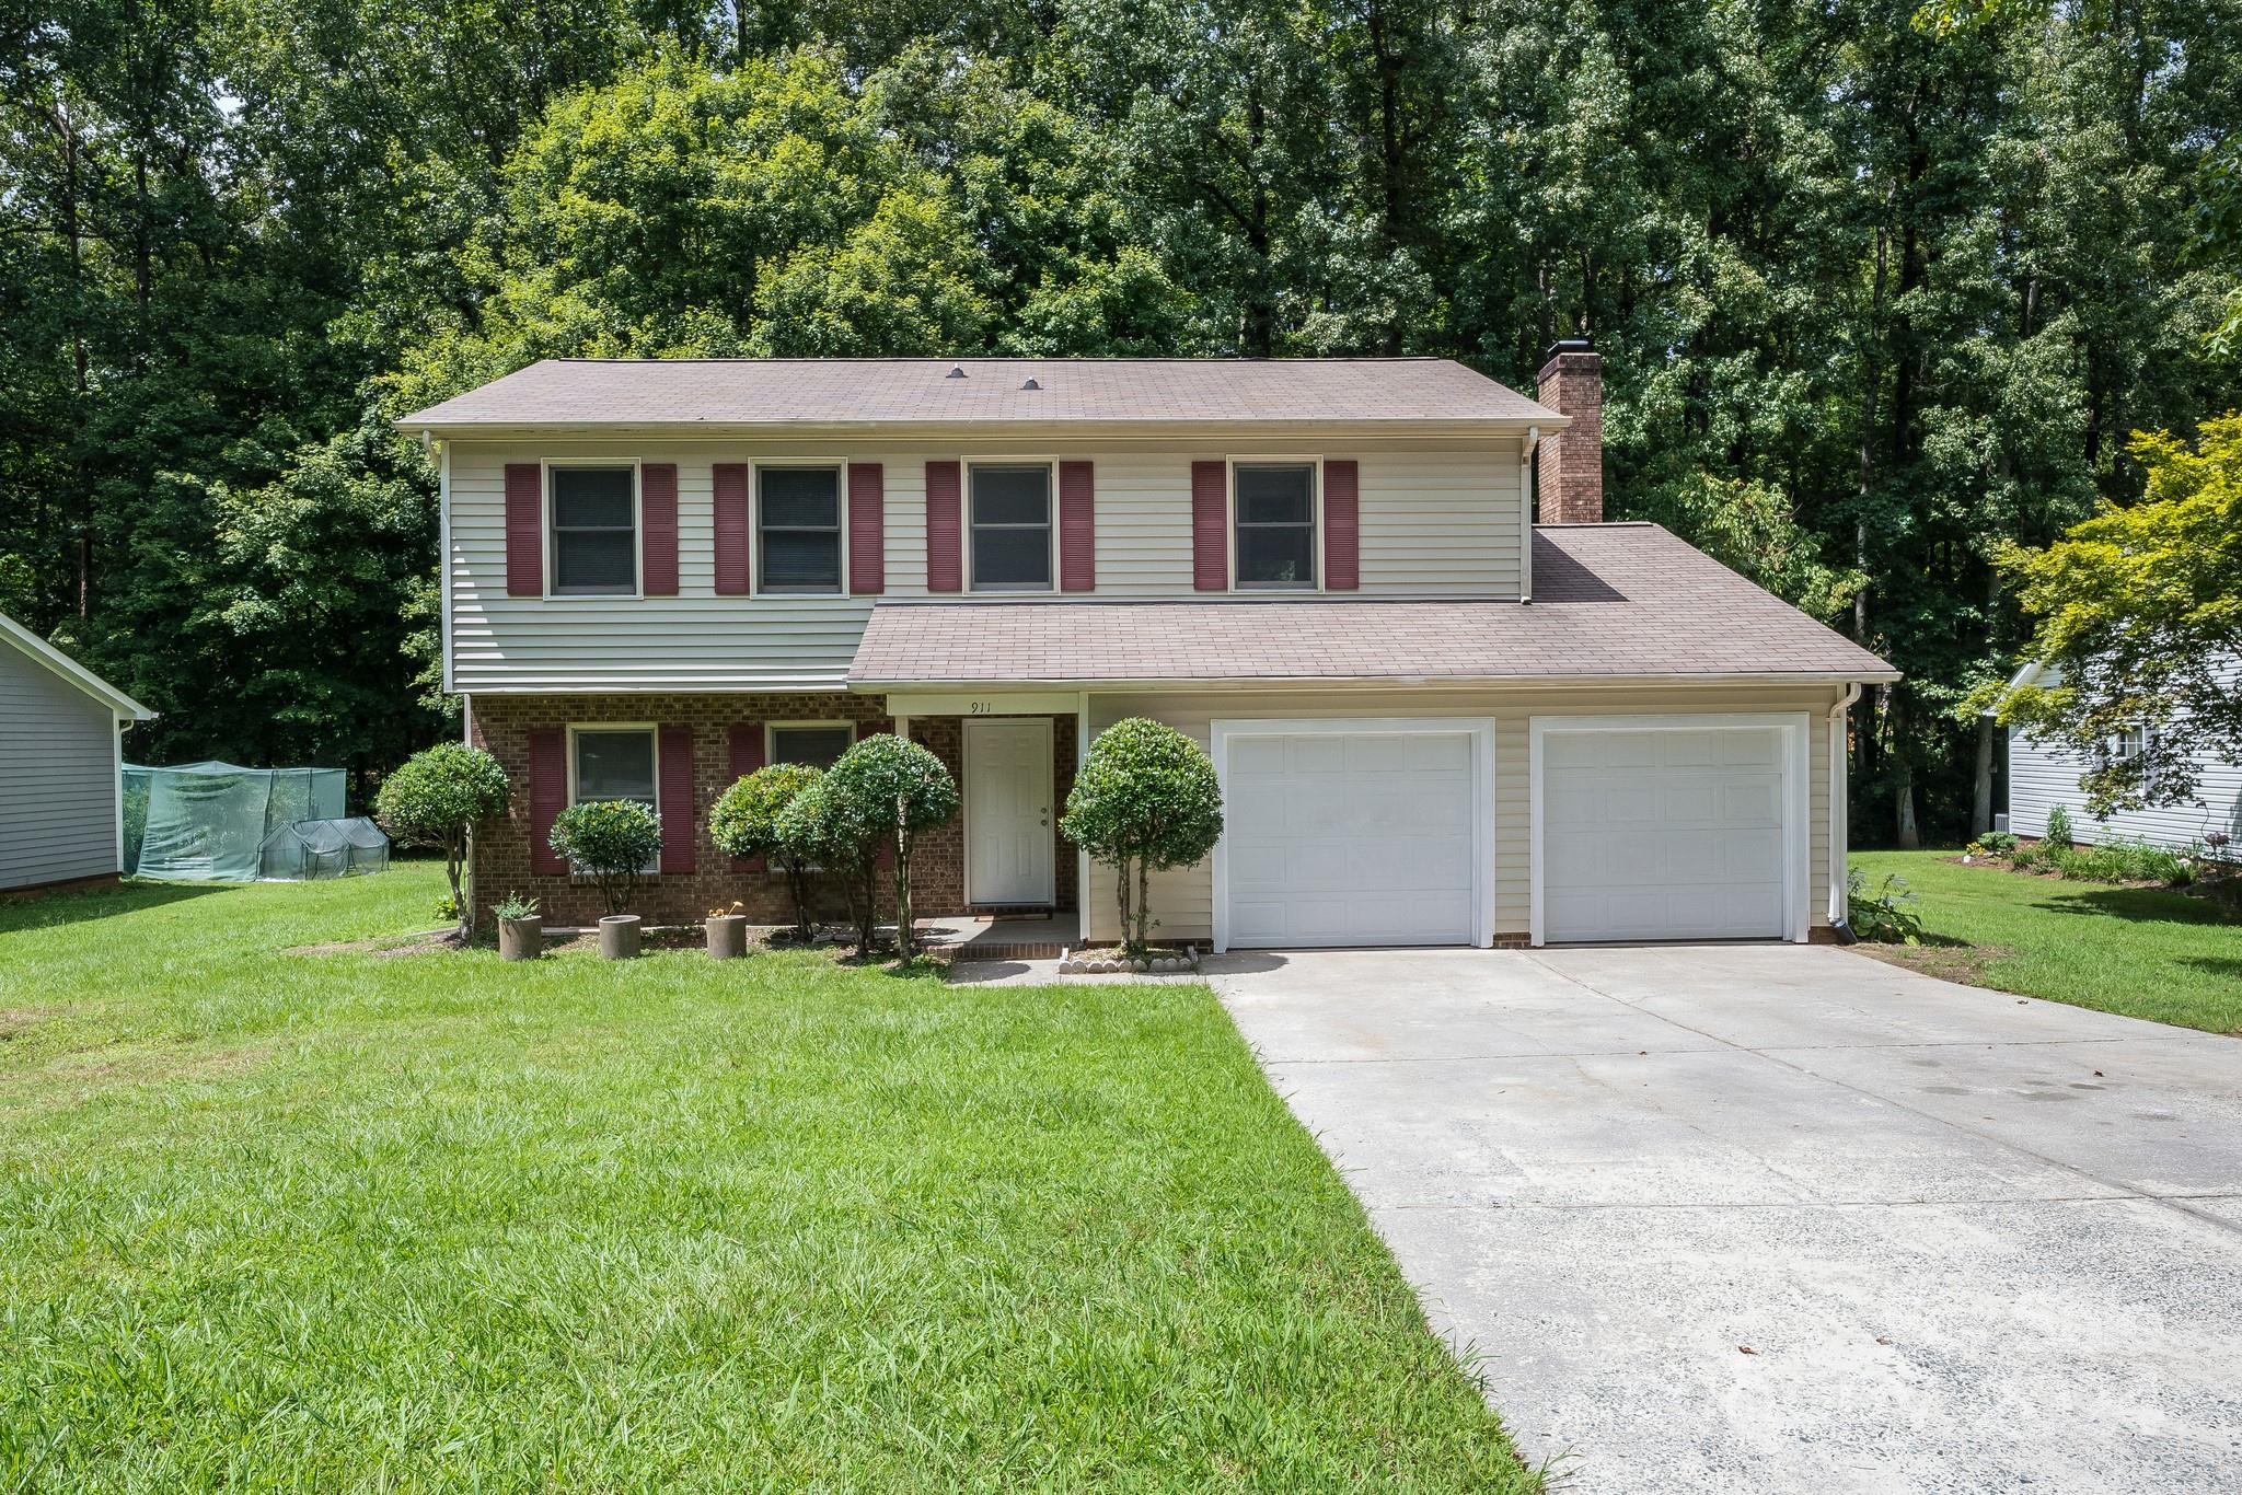
[[[341,820],[343,791],[341,769],[126,764],[126,872],[164,883],[251,883],[265,876],[274,832]]]

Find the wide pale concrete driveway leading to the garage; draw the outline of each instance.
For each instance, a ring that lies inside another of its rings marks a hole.
[[[1834,948],[1208,975],[1565,1488],[2242,1488],[2238,1040]]]

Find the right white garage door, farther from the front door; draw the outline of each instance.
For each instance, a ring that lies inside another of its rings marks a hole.
[[[1785,733],[1542,735],[1542,939],[1789,932]]]

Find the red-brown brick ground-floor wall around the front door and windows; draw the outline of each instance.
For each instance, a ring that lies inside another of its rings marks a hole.
[[[554,923],[590,923],[603,908],[590,879],[538,876],[529,870],[529,733],[540,726],[587,726],[599,722],[648,722],[684,726],[693,733],[693,872],[646,876],[630,912],[650,923],[691,923],[711,908],[747,906],[756,923],[794,919],[787,883],[778,872],[735,872],[731,858],[708,841],[708,807],[731,787],[731,728],[740,722],[886,722],[886,699],[877,695],[480,695],[469,702],[469,740],[487,749],[513,780],[513,805],[504,823],[475,834],[473,899],[489,908],[509,892],[538,899]],[[1056,717],[1054,809],[1074,787],[1074,717]],[[926,746],[964,784],[964,728],[957,717],[912,717],[910,737]],[[664,818],[675,814],[664,805]],[[1056,823],[1056,814],[1054,814]],[[1058,908],[1074,908],[1074,847],[1054,825]],[[964,825],[953,818],[919,836],[912,854],[912,912],[957,914],[964,903]],[[827,912],[839,917],[839,894]]]

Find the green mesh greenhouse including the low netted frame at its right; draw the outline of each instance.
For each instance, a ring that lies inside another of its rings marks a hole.
[[[126,874],[159,883],[300,883],[390,865],[390,838],[343,814],[341,769],[126,764]]]

